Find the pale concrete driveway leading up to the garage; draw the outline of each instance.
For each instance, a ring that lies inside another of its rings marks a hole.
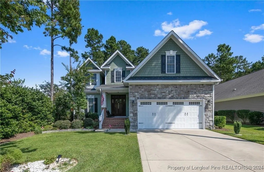
[[[258,143],[203,129],[137,130],[137,135],[144,172],[264,171],[264,145]]]

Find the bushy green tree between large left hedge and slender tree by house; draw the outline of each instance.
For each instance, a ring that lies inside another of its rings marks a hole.
[[[71,95],[64,89],[54,93],[54,119],[69,120],[71,114]]]

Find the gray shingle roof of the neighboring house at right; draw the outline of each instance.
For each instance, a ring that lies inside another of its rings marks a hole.
[[[264,69],[223,82],[215,86],[215,100],[246,98],[248,95],[264,95]],[[235,89],[235,90],[234,90]]]

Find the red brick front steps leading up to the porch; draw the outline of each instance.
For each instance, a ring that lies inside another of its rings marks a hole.
[[[104,118],[102,128],[124,128],[126,118]]]

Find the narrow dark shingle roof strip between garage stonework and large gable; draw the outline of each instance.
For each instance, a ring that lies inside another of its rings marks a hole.
[[[128,80],[217,80],[211,76],[132,76]]]

